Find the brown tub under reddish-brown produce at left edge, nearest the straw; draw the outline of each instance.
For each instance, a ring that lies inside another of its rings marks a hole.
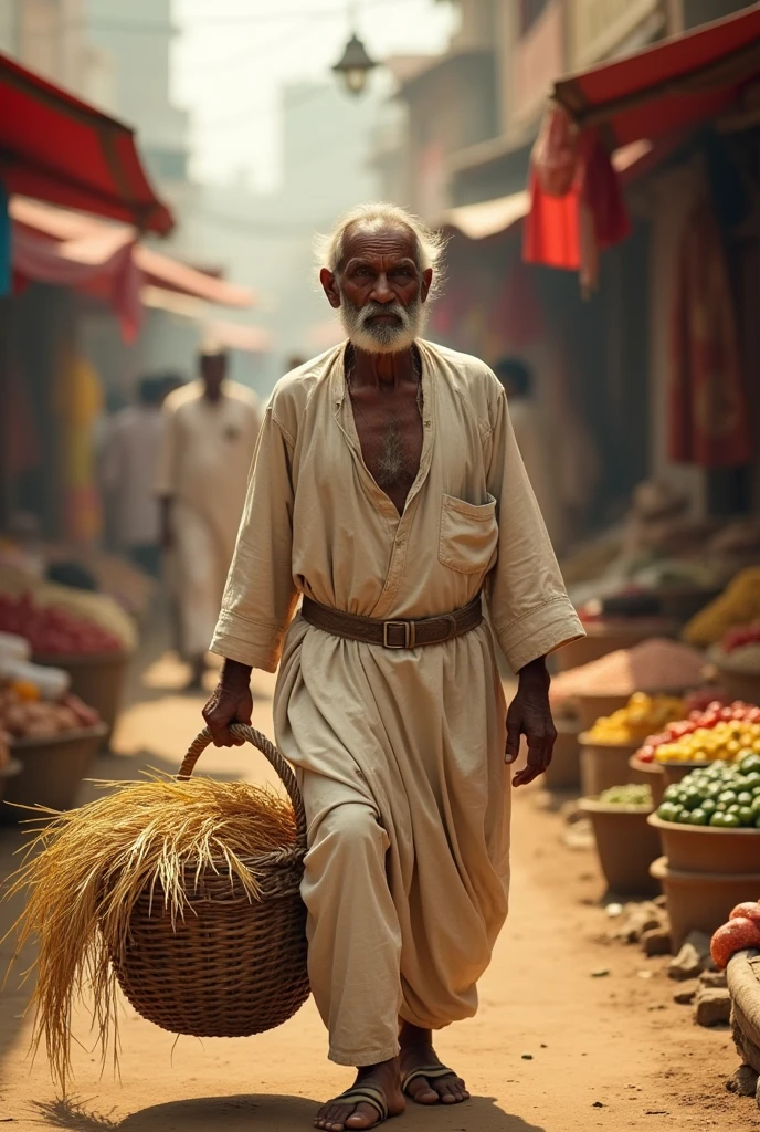
[[[20,772],[6,787],[2,820],[20,822],[29,813],[16,806],[48,806],[71,809],[76,805],[79,783],[87,774],[107,728],[96,723],[78,731],[64,731],[45,739],[16,739],[11,745]],[[8,803],[12,803],[14,807]]]

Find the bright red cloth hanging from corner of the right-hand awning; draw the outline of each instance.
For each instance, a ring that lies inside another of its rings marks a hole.
[[[522,258],[580,271],[585,291],[598,275],[598,254],[625,239],[631,222],[618,173],[595,130],[578,131],[550,103],[530,155],[530,212]]]

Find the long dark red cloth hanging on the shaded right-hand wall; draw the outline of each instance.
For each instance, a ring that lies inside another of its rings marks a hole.
[[[689,216],[675,280],[668,452],[700,468],[752,456],[749,406],[720,229],[707,196]]]

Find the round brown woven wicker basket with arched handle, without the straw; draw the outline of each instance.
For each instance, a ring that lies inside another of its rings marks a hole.
[[[126,954],[113,957],[121,989],[135,1010],[173,1034],[248,1037],[286,1022],[309,997],[306,911],[301,900],[306,818],[295,775],[269,740],[233,724],[269,760],[295,812],[296,842],[256,859],[262,897],[251,903],[226,866],[188,876],[190,908],[174,928],[158,892],[135,906]],[[205,729],[178,778],[187,779],[210,743]]]

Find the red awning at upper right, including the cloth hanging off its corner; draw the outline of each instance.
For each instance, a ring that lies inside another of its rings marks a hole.
[[[630,231],[608,154],[654,139],[679,144],[760,76],[760,3],[634,55],[554,84],[530,163],[528,263],[580,268],[596,282],[598,251]]]

